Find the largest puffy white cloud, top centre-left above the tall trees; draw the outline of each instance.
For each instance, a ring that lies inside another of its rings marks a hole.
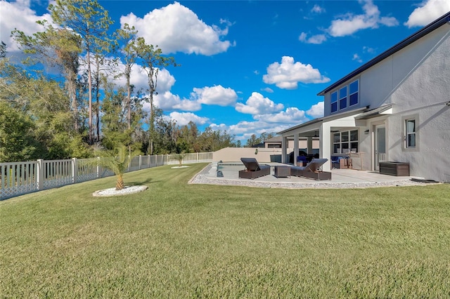
[[[122,16],[120,24],[127,23],[136,27],[139,36],[143,36],[147,43],[158,45],[164,53],[195,53],[214,55],[225,52],[230,46],[230,41],[222,41],[221,38],[228,34],[229,22],[224,29],[216,25],[206,25],[193,11],[178,2],[169,4],[160,9],[155,9],[143,18],[134,13]]]

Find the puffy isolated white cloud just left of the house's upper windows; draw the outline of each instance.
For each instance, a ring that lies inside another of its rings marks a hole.
[[[301,62],[294,62],[294,58],[283,56],[281,64],[274,62],[267,67],[267,74],[262,77],[264,83],[275,84],[278,88],[295,89],[298,82],[325,83],[329,78],[322,76],[319,69]]]

